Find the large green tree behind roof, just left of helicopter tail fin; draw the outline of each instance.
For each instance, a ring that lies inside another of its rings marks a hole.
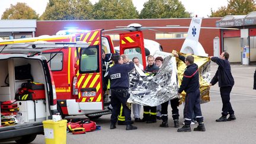
[[[189,12],[178,0],[149,0],[143,5],[139,18],[188,18]]]

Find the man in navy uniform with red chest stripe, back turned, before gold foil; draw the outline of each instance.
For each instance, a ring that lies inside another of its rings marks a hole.
[[[175,57],[182,60],[187,68],[184,71],[183,80],[181,86],[178,89],[178,94],[185,91],[185,107],[184,107],[184,119],[185,125],[177,130],[177,132],[191,132],[190,123],[192,119],[192,113],[196,115],[196,120],[199,123],[199,126],[194,128],[194,131],[204,132],[206,129],[203,123],[203,116],[201,114],[200,107],[200,90],[199,90],[199,72],[198,66],[194,63],[193,56],[180,56],[174,50],[173,52]]]

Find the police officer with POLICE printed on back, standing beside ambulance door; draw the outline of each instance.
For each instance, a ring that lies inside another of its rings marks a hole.
[[[110,129],[116,129],[117,115],[120,111],[121,104],[123,105],[126,130],[135,130],[137,127],[132,126],[131,110],[126,103],[129,98],[129,75],[128,73],[135,68],[133,62],[128,65],[123,65],[123,58],[120,55],[113,57],[115,65],[112,66],[108,72],[110,77],[111,89],[111,105],[113,107],[111,114]]]

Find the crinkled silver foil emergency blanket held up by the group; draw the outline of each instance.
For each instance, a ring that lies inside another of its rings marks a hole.
[[[128,103],[156,106],[178,97],[177,63],[167,56],[155,76],[146,76],[139,68],[129,73]]]

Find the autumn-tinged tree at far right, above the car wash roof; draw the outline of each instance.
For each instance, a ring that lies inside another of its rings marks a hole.
[[[225,17],[225,15],[247,15],[255,11],[255,0],[229,0],[227,7],[220,7],[217,11],[211,9],[210,17]]]

